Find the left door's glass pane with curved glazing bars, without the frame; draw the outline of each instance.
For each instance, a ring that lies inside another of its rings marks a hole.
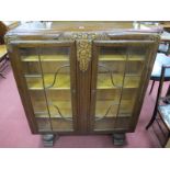
[[[38,129],[72,131],[69,48],[22,48],[21,54]]]

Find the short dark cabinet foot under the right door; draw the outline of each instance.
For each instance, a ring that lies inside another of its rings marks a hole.
[[[115,146],[122,146],[122,145],[125,145],[125,139],[126,139],[126,136],[124,133],[122,134],[113,134],[113,144]]]

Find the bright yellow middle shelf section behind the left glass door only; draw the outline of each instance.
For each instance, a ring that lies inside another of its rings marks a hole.
[[[41,75],[25,76],[27,87],[30,90],[43,90],[43,79]],[[54,82],[55,75],[44,75],[45,87],[49,87]],[[53,87],[47,88],[50,90],[69,90],[70,89],[70,76],[66,73],[59,73],[56,77],[56,81]]]

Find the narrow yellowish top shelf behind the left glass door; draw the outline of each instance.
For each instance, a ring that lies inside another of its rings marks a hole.
[[[68,55],[42,55],[41,61],[68,61]],[[22,61],[38,61],[37,55],[22,56]]]

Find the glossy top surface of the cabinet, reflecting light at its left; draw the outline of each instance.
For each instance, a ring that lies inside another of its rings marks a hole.
[[[10,33],[43,33],[43,32],[105,32],[105,31],[145,31],[158,32],[158,27],[137,27],[132,21],[55,21],[30,22],[18,26]]]

